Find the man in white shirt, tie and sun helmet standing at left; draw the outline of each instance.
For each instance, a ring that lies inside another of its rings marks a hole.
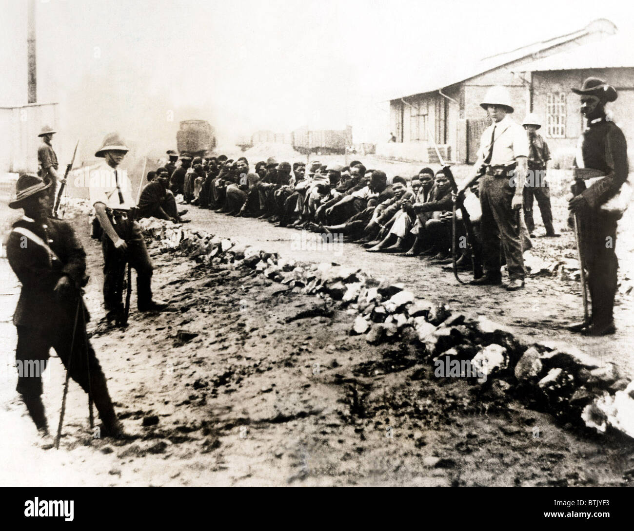
[[[134,221],[135,206],[126,170],[119,168],[128,148],[119,134],[108,134],[94,154],[104,158],[91,172],[90,200],[100,222],[103,250],[103,299],[108,322],[124,323],[123,280],[126,264],[136,269],[137,307],[141,312],[160,311],[167,307],[152,300],[153,265],[141,229]]]

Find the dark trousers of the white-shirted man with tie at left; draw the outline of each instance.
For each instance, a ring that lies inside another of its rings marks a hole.
[[[104,232],[101,236],[103,251],[103,302],[105,309],[119,311],[123,308],[124,277],[126,264],[136,269],[136,298],[138,307],[152,302],[153,265],[141,229],[136,222],[113,215],[112,226],[127,244],[127,251],[115,248],[114,243]]]

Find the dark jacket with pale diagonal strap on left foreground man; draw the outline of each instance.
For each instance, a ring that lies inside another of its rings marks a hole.
[[[37,238],[32,239],[27,231]],[[56,256],[41,245],[44,242]],[[23,217],[13,224],[6,242],[6,255],[22,283],[13,324],[38,329],[72,326],[77,298],[60,301],[53,291],[64,275],[70,278],[72,285],[84,284],[86,253],[70,224],[57,219],[48,219],[42,224]]]

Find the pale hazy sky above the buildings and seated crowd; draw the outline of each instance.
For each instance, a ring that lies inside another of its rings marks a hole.
[[[26,0],[0,8],[0,67],[20,74]],[[596,18],[623,34],[631,11],[610,0],[38,0],[38,98],[96,136],[174,138],[178,120],[201,117],[227,136],[348,122],[358,141],[385,136],[380,102],[399,86]],[[25,103],[26,76],[13,77],[0,105]]]

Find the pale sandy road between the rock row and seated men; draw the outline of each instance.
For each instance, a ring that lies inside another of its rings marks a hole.
[[[562,217],[562,207],[558,210]],[[351,243],[321,250],[311,250],[314,245],[311,247],[310,244],[302,248],[302,238],[311,241],[309,238],[316,235],[304,233],[302,236],[301,231],[274,227],[266,221],[230,217],[196,207],[191,207],[186,217],[192,220],[186,226],[188,228],[203,229],[244,245],[278,252],[282,257],[302,262],[336,262],[362,267],[375,278],[403,282],[419,297],[449,303],[464,312],[484,314],[489,319],[511,326],[517,335],[526,340],[573,343],[600,359],[614,361],[624,374],[634,375],[634,356],[631,355],[634,350],[634,310],[630,298],[617,295],[616,335],[585,338],[562,328],[567,323],[580,321],[583,316],[581,289],[575,281],[529,278],[526,288],[514,293],[498,287],[461,286],[452,272],[443,271],[424,260],[368,253],[361,246]],[[531,252],[545,260],[576,258],[574,236],[570,231],[562,231],[562,237],[557,239],[534,238],[533,245]],[[461,274],[465,280],[468,276],[468,273]]]

